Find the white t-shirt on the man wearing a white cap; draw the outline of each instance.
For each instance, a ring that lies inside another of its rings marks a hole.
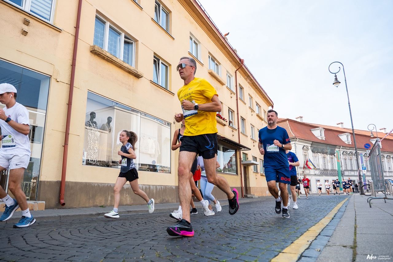
[[[3,108],[6,116],[19,124],[30,125],[29,112],[20,103],[15,103],[11,108]],[[8,123],[0,120],[2,133],[2,147],[0,153],[7,155],[26,154],[30,155],[30,140],[27,135],[17,132]]]

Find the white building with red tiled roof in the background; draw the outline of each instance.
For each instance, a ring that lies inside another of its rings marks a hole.
[[[303,177],[304,174],[310,179],[310,192],[317,192],[316,183],[321,181],[322,191],[326,192],[325,181],[336,180],[338,178],[338,161],[337,152],[339,152],[340,169],[343,178],[351,178],[358,183],[358,168],[356,164],[355,148],[353,143],[352,129],[344,128],[343,123],[338,126],[329,126],[321,124],[311,124],[303,122],[303,117],[292,120],[289,118],[280,118],[277,125],[284,127],[291,139],[292,152],[299,159],[300,166],[298,176]],[[386,132],[386,131],[385,131]],[[374,133],[375,134],[375,133]],[[367,159],[367,151],[364,144],[373,144],[376,142],[376,136],[370,137],[370,131],[355,130],[356,146],[360,164],[360,154],[364,160]],[[378,138],[385,137],[386,133],[378,133]],[[382,140],[382,167],[385,179],[393,179],[392,160],[393,160],[393,136],[387,135]],[[309,159],[311,170],[305,167],[306,160]],[[365,167],[367,169],[365,178],[371,180],[370,166],[367,161]],[[360,171],[362,172],[362,171]],[[341,181],[340,181],[341,182]],[[304,192],[301,186],[302,192]]]

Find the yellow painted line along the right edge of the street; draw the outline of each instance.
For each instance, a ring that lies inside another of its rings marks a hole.
[[[329,212],[324,218],[322,218],[318,223],[313,225],[312,227],[309,228],[304,234],[302,234],[297,240],[295,240],[292,244],[288,245],[281,253],[279,253],[277,256],[275,256],[271,261],[272,262],[296,262],[298,258],[300,257],[301,253],[303,253],[311,244],[312,241],[309,240],[314,240],[324,229],[327,224],[333,219],[334,215],[338,212],[340,207],[347,201],[348,199],[345,199],[341,201],[336,207],[332,209],[332,211]]]

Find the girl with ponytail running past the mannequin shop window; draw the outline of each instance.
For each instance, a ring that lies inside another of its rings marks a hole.
[[[132,131],[123,130],[120,133],[119,140],[123,143],[123,146],[118,151],[118,155],[121,156],[119,164],[121,164],[119,177],[116,180],[114,190],[114,205],[113,210],[105,214],[106,218],[119,218],[118,208],[120,202],[120,190],[123,188],[127,181],[130,182],[132,191],[134,194],[145,199],[147,203],[147,208],[149,208],[149,213],[154,211],[154,199],[147,197],[146,193],[140,190],[138,185],[138,172],[136,171],[134,159],[136,159],[136,154],[134,152],[135,143],[138,140],[136,133]]]

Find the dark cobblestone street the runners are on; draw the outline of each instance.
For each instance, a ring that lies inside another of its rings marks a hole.
[[[165,228],[176,223],[169,212],[123,215],[116,220],[37,221],[24,229],[1,224],[0,260],[269,261],[346,197],[302,196],[299,209],[289,209],[289,219],[275,214],[273,199],[241,204],[234,216],[228,214],[228,205],[209,217],[197,206],[199,213],[191,216],[192,238],[168,236]]]

